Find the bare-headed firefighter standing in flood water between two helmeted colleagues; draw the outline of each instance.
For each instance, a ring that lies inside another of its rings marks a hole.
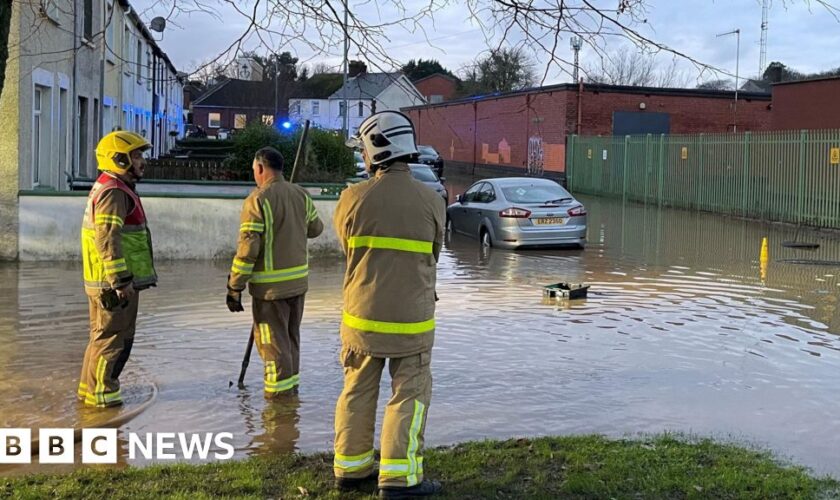
[[[254,341],[265,362],[265,397],[297,393],[300,382],[300,322],[309,288],[307,238],[324,230],[302,187],[283,179],[283,155],[257,151],[252,164],[257,188],[242,207],[239,243],[228,277],[227,306],[243,311],[248,284]]]

